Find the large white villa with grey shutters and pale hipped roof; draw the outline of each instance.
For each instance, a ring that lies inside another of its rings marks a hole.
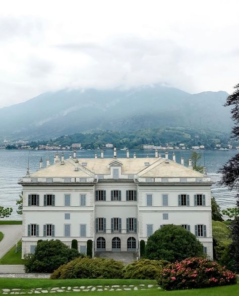
[[[166,224],[182,225],[194,233],[213,258],[211,179],[204,173],[165,158],[98,157],[61,159],[19,180],[23,187],[22,256],[34,253],[38,240],[58,239],[69,247],[73,239],[86,253],[93,241],[99,252],[135,252],[141,240]]]

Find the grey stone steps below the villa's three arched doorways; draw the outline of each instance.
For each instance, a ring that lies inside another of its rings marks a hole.
[[[113,259],[116,261],[121,261],[124,265],[127,265],[137,259],[137,253],[136,252],[96,252],[95,257]]]

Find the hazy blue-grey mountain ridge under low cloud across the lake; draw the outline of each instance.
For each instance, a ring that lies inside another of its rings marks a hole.
[[[61,90],[0,109],[0,139],[47,139],[96,130],[183,126],[229,131],[224,91],[190,94],[159,85]]]

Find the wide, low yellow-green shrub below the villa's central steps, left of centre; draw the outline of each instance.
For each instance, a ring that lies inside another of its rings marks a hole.
[[[77,258],[55,270],[51,278],[123,278],[123,267],[113,259]]]

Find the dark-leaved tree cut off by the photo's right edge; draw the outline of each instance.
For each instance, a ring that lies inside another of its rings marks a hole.
[[[235,91],[226,99],[224,106],[231,106],[231,119],[234,121],[232,137],[239,140],[239,84]],[[239,191],[239,153],[229,159],[219,170],[222,173],[220,185],[227,186],[230,190]],[[239,208],[239,193],[236,195],[236,207]],[[234,262],[234,268],[239,271],[239,217],[236,216],[231,223],[232,243],[229,246],[229,254]]]

